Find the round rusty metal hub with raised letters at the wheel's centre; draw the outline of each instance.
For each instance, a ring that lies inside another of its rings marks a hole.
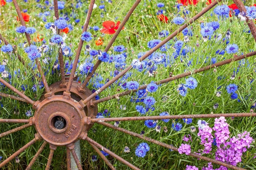
[[[97,105],[89,104],[82,107],[80,100],[86,99],[92,93],[88,88],[79,92],[76,87],[80,84],[73,81],[71,95],[65,96],[65,87],[61,82],[52,84],[52,96],[43,97],[35,107],[32,120],[41,139],[55,146],[67,146],[87,135],[93,124],[87,125],[87,117],[95,117],[98,113]]]

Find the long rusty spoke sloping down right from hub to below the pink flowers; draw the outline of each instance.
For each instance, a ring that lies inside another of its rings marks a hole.
[[[149,137],[145,137],[144,135],[140,135],[140,134],[138,134],[138,133],[131,132],[131,131],[128,131],[128,130],[123,129],[123,128],[116,128],[114,125],[109,124],[109,123],[106,123],[106,122],[97,122],[97,123],[102,124],[102,125],[104,125],[104,126],[107,126],[107,127],[109,127],[109,128],[115,129],[115,130],[117,130],[117,131],[120,131],[120,132],[129,134],[129,135],[131,135],[131,136],[138,137],[138,138],[143,139],[143,140],[146,140],[146,141],[148,141],[148,142],[155,143],[155,144],[157,144],[157,145],[159,145],[159,146],[172,149],[172,150],[178,152],[178,148],[173,147],[173,146],[171,146],[171,145],[168,145],[168,144],[166,144],[166,143],[160,142],[160,141],[158,141],[158,140],[151,139],[151,138],[149,138]],[[201,156],[201,155],[198,155],[198,154],[195,154],[195,153],[192,153],[192,152],[189,154],[189,156],[193,156],[193,157],[196,157],[196,158],[199,158],[199,159],[202,159],[202,160],[206,160],[206,161],[211,162],[211,163],[214,163],[214,164],[222,165],[222,166],[225,166],[225,167],[227,167],[227,168],[231,168],[231,169],[235,169],[235,170],[245,170],[244,168],[239,168],[239,167],[236,167],[236,166],[233,166],[233,165],[230,165],[230,164],[227,164],[227,163],[224,163],[224,162],[221,162],[221,161],[212,159],[212,158],[208,158],[208,157],[205,157],[205,156]]]

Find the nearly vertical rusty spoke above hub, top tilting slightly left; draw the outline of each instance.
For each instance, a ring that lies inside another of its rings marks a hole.
[[[54,0],[54,14],[56,19],[59,19],[59,10],[58,10],[58,0]],[[60,35],[60,30],[57,30],[57,33]],[[64,70],[64,62],[63,62],[63,55],[62,55],[62,49],[61,46],[59,47],[59,65],[60,65],[60,75],[61,75],[61,85],[65,84],[65,70]],[[66,86],[66,84],[65,84]]]

